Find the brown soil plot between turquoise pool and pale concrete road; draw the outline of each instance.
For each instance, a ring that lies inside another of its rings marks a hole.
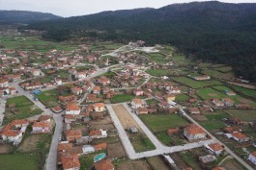
[[[124,158],[127,157],[125,149],[121,142],[107,145],[108,158]]]

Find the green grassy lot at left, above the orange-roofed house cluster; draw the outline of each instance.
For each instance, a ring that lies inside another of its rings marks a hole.
[[[7,99],[7,108],[3,124],[12,122],[14,119],[28,118],[43,112],[35,106],[27,97],[17,96]]]

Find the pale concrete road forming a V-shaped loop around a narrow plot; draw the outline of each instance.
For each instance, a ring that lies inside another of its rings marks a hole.
[[[128,158],[130,159],[137,159],[137,158],[148,158],[148,157],[154,157],[154,156],[158,156],[158,155],[162,155],[162,154],[170,154],[170,153],[175,153],[175,152],[180,152],[180,151],[185,151],[188,149],[192,149],[192,148],[198,148],[198,147],[202,147],[204,144],[210,144],[215,142],[215,140],[210,139],[210,140],[205,140],[202,141],[201,143],[195,142],[195,143],[188,143],[182,146],[173,146],[173,147],[167,147],[162,145],[155,136],[152,136],[151,132],[149,132],[149,130],[145,129],[145,127],[141,127],[141,129],[145,134],[149,135],[151,138],[151,140],[153,141],[153,143],[156,145],[156,149],[152,150],[152,151],[146,151],[146,152],[141,152],[141,153],[135,153],[129,139],[128,139],[128,134],[126,133],[126,131],[124,130],[122,124],[120,123],[115,111],[112,109],[111,105],[106,105],[106,108],[109,111],[109,114],[112,118],[112,120],[114,121],[114,125],[118,131],[118,134],[121,138],[121,141],[123,143],[123,146],[128,154]],[[129,111],[128,111],[129,112]],[[138,122],[137,122],[138,123]],[[141,124],[139,124],[141,125]],[[147,127],[146,127],[147,128]]]

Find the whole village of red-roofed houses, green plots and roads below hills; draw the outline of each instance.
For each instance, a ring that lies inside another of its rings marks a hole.
[[[34,36],[0,39],[23,43],[0,51],[5,163],[25,158],[26,169],[46,170],[256,168],[255,85],[229,65],[191,61],[175,47],[145,47],[143,40],[31,50],[40,41]]]

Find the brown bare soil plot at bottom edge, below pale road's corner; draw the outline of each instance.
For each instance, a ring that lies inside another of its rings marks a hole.
[[[117,170],[152,170],[149,163],[143,160],[128,160],[121,163]]]

